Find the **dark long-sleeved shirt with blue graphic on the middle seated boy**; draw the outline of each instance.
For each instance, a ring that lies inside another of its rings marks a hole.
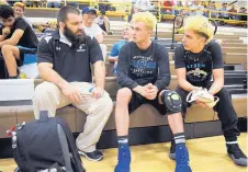
[[[153,42],[146,50],[131,42],[119,54],[117,81],[121,87],[133,89],[147,83],[159,90],[170,83],[169,55],[165,46]]]

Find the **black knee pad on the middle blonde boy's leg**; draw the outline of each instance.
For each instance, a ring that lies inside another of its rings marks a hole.
[[[165,104],[167,113],[174,114],[181,112],[182,100],[176,91],[166,90],[161,94],[161,102]]]

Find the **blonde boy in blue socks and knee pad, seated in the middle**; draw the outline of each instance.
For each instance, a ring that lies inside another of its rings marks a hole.
[[[115,172],[129,172],[129,116],[142,104],[150,104],[168,123],[176,140],[176,172],[191,172],[181,115],[181,99],[171,90],[169,55],[165,46],[151,42],[156,16],[138,12],[133,18],[134,42],[126,43],[119,55],[117,82],[122,87],[116,95],[115,123],[119,142],[119,162]],[[140,114],[142,119],[142,114]]]

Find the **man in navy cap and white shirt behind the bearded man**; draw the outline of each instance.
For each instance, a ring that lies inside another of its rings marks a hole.
[[[84,8],[82,10],[82,18],[83,18],[83,30],[84,33],[89,36],[94,36],[100,44],[100,47],[102,49],[102,55],[105,60],[106,58],[106,46],[103,43],[103,35],[106,35],[102,28],[94,23],[94,19],[97,18],[97,11],[92,8]]]

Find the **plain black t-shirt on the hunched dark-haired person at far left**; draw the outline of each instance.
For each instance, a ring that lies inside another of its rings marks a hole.
[[[2,35],[2,28],[4,26],[0,26],[0,35]],[[23,30],[24,33],[20,38],[18,45],[27,47],[27,48],[37,48],[38,39],[35,35],[34,31],[31,28],[30,24],[25,22],[25,20],[18,18],[13,26],[11,27],[10,34],[5,37],[7,39],[10,38],[15,30]]]

